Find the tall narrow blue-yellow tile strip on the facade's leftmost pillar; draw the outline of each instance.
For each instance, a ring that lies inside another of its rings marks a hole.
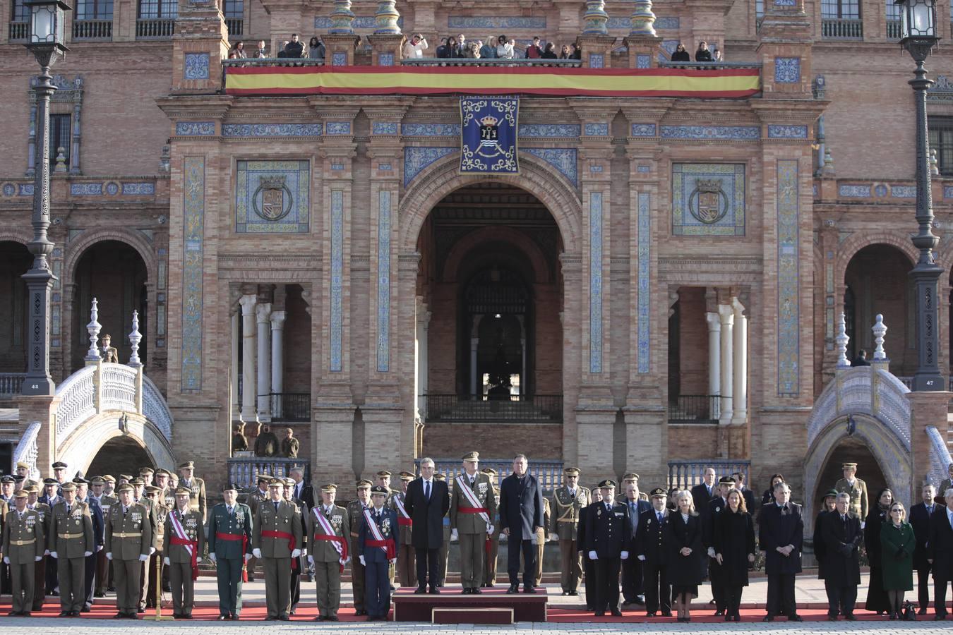
[[[205,157],[182,161],[182,392],[202,388],[202,267],[205,237]]]

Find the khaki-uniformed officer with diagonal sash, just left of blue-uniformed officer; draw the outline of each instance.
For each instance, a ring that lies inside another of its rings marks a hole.
[[[317,617],[314,622],[337,622],[341,605],[341,573],[351,557],[351,524],[348,510],[335,505],[337,486],[321,486],[321,503],[307,516],[308,563],[314,566]],[[413,566],[412,566],[413,568]]]

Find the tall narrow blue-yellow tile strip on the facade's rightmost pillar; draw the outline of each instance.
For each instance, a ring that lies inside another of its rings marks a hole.
[[[778,394],[801,392],[798,161],[778,160]]]

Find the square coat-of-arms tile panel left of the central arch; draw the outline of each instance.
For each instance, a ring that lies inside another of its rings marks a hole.
[[[236,233],[308,233],[310,162],[239,161],[236,172]]]

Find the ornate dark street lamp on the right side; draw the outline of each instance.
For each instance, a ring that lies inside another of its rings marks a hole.
[[[936,0],[897,0],[901,7],[901,46],[917,63],[913,71],[914,101],[917,104],[917,223],[914,247],[920,249],[920,260],[910,271],[917,294],[917,373],[914,390],[945,390],[940,373],[939,303],[940,276],[943,269],[933,261],[933,249],[940,239],[933,234],[933,200],[930,193],[930,150],[926,128],[926,89],[933,81],[926,78],[923,62],[936,46]]]

